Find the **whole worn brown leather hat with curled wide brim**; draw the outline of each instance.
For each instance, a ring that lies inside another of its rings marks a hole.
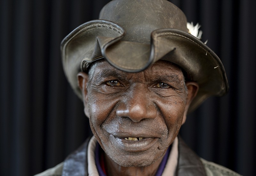
[[[64,72],[76,94],[77,73],[104,58],[125,72],[140,72],[157,60],[179,65],[199,90],[190,105],[194,110],[209,96],[228,91],[219,57],[189,33],[187,18],[166,0],[113,0],[100,17],[78,26],[61,42]]]

